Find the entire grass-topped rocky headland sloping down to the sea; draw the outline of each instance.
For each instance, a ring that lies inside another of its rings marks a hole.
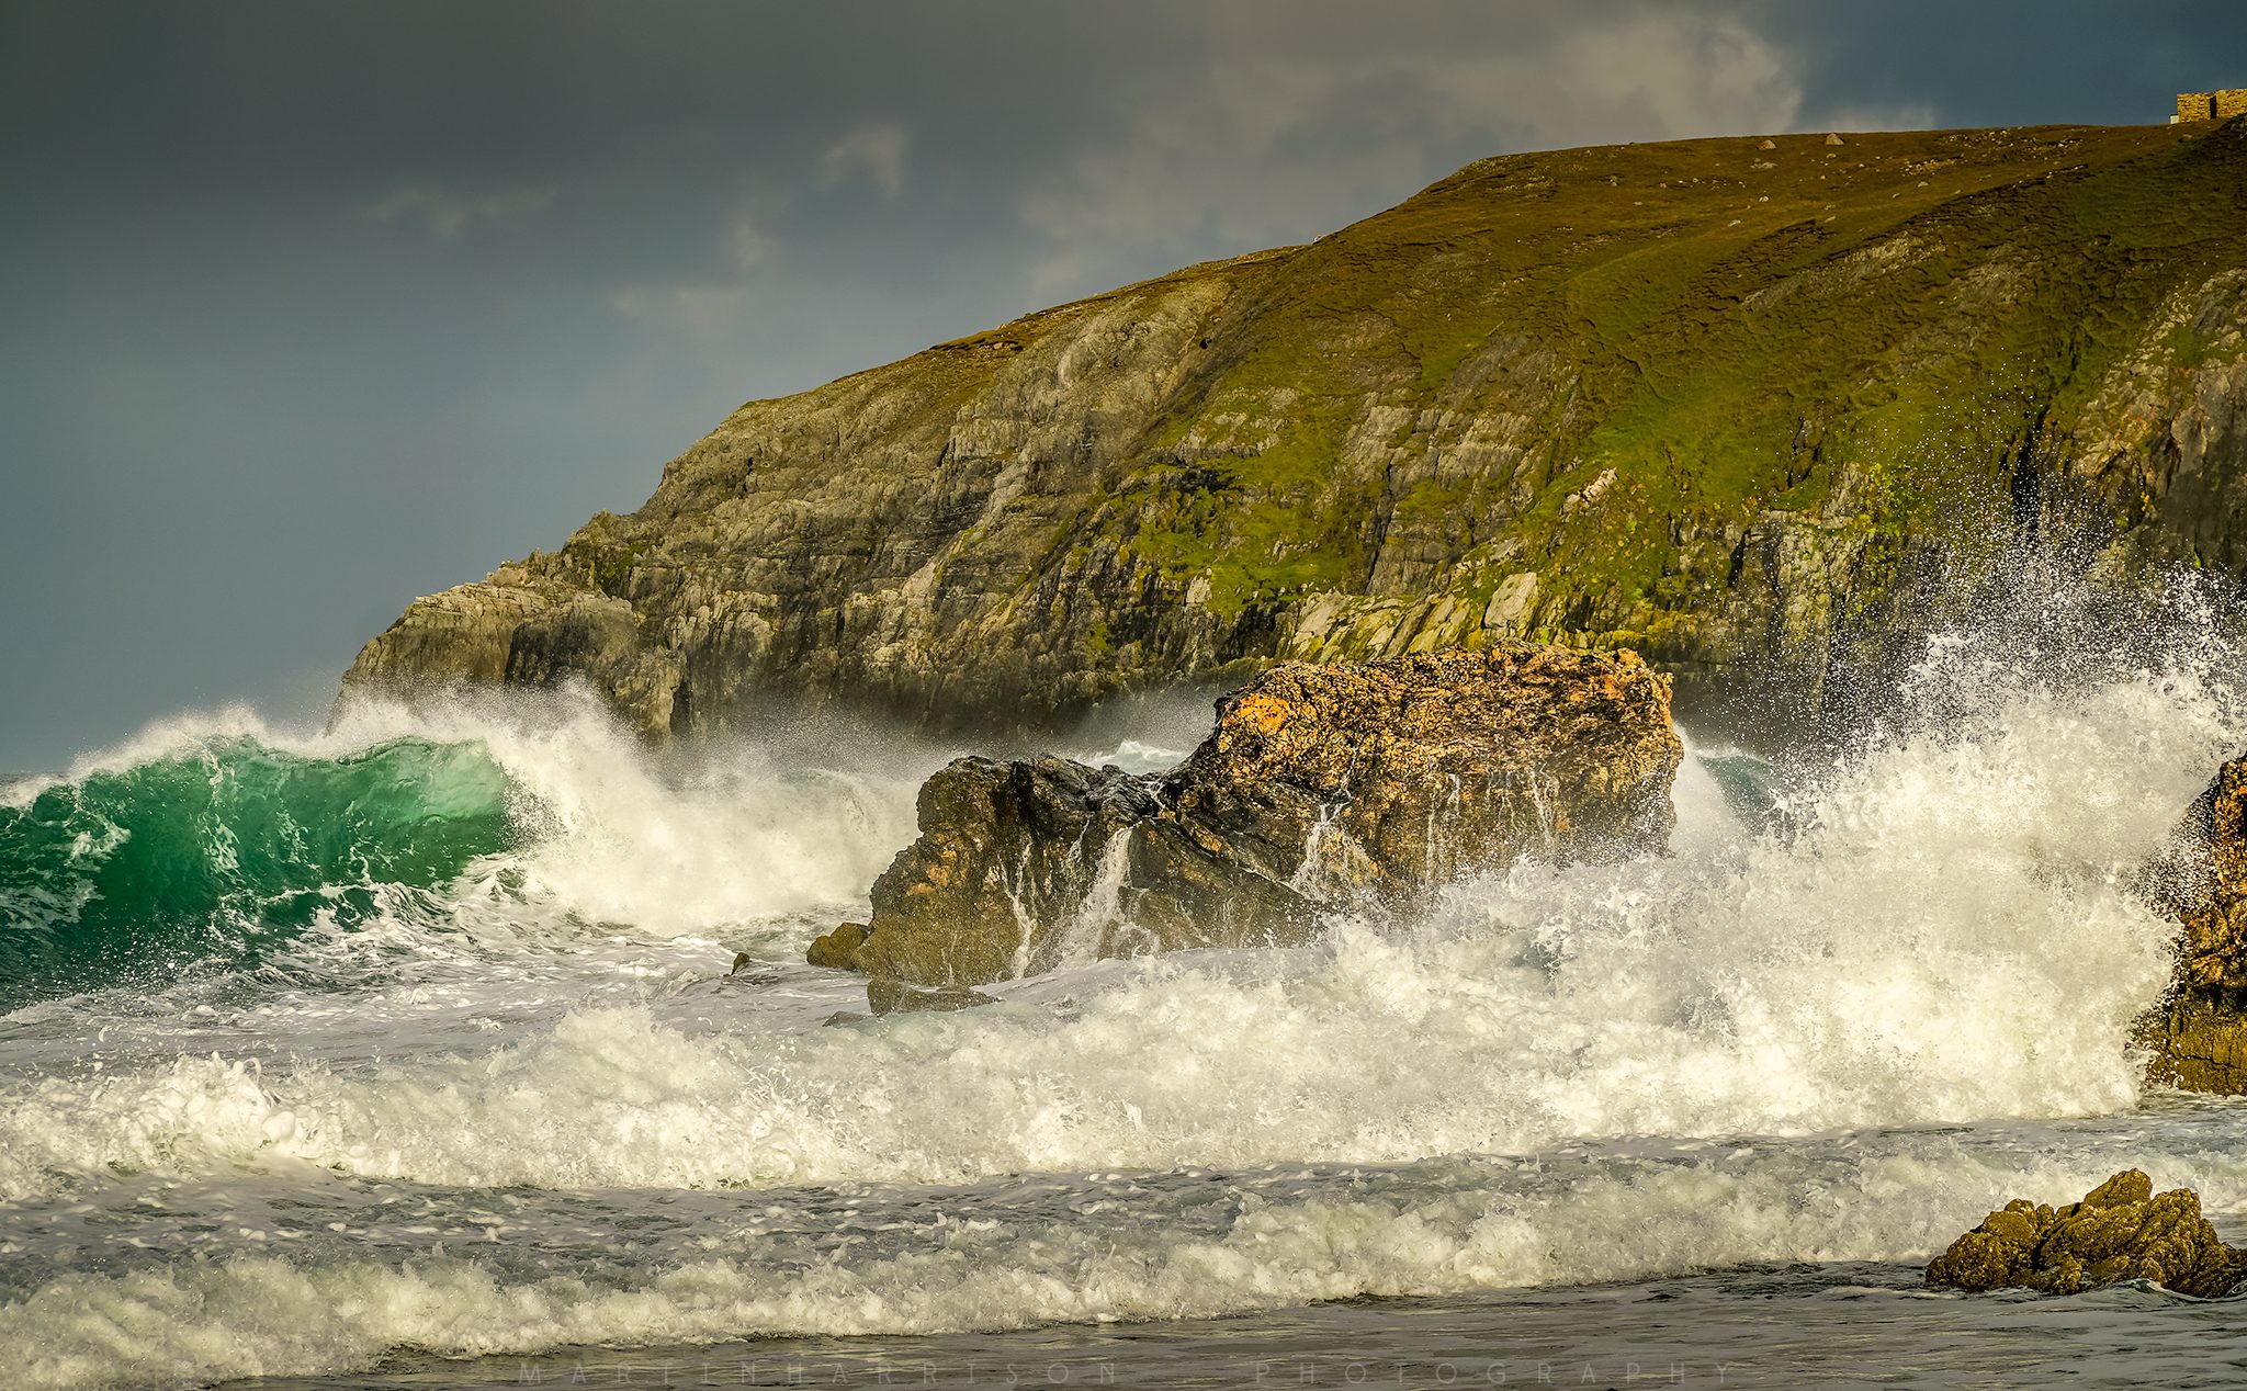
[[[1847,701],[2069,528],[2247,573],[2247,126],[1472,164],[786,400],[645,508],[416,602],[346,694],[582,676],[1036,721],[1548,638]]]

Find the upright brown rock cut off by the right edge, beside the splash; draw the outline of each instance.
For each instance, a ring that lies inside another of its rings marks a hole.
[[[2150,885],[2180,924],[2177,984],[2139,1020],[2153,1076],[2193,1092],[2247,1092],[2247,757],[2218,769]]]

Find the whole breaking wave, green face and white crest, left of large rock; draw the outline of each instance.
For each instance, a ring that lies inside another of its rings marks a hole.
[[[0,1011],[288,966],[360,930],[337,951],[510,924],[710,935],[847,903],[910,834],[915,782],[912,762],[753,746],[661,764],[573,697],[362,703],[319,733],[164,721],[0,804]],[[315,980],[321,957],[301,964]]]

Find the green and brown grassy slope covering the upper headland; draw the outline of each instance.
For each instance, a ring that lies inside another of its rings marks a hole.
[[[2016,458],[2067,425],[2043,416],[2247,245],[2236,126],[1773,146],[1490,160],[1274,261],[1254,342],[1119,481],[1157,499],[1126,544],[1225,609],[1362,587],[1373,512],[1456,517],[1456,589],[1488,593],[1474,546],[1505,537],[1548,593],[1654,622],[1665,580],[1681,598],[1679,519],[2002,526]],[[1519,389],[1483,362],[1514,342],[1541,357]],[[1512,476],[1409,479],[1418,429],[1382,467],[1344,449],[1366,402],[1526,411],[1541,447]]]

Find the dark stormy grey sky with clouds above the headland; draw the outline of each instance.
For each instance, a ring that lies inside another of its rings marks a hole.
[[[744,400],[1470,160],[2222,85],[2238,0],[0,0],[0,771],[317,719]]]

